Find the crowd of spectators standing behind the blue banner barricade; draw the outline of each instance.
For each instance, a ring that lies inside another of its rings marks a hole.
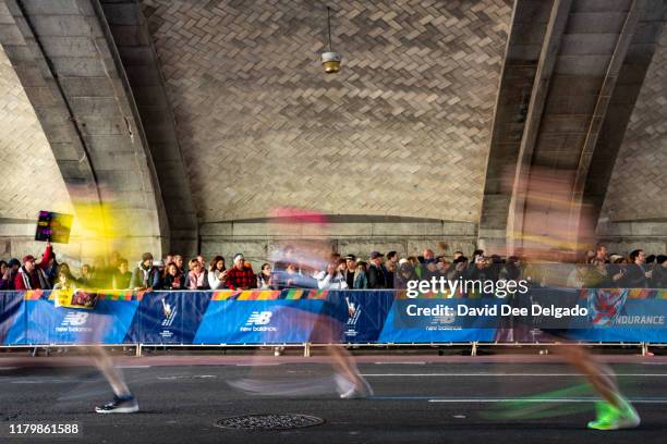
[[[93,264],[82,264],[76,278],[68,263],[56,260],[53,248],[47,243],[39,261],[31,255],[22,261],[15,258],[0,261],[0,289],[381,289],[405,288],[410,281],[434,276],[518,281],[541,274],[522,258],[486,256],[483,250],[473,251],[471,258],[463,251],[454,251],[451,257],[436,257],[430,249],[425,249],[421,256],[408,257],[397,251],[387,255],[372,251],[367,258],[331,254],[307,263],[296,259],[292,247],[284,247],[282,252],[280,260],[264,263],[257,273],[242,254],[235,255],[228,268],[222,256],[214,257],[210,262],[197,256],[186,262],[181,255],[155,260],[149,252],[130,267],[126,259],[112,252],[108,261],[97,258]],[[641,249],[624,257],[609,254],[606,246],[598,245],[585,259],[568,269],[563,281],[567,280],[567,286],[580,288],[667,288],[666,259],[665,255],[647,256]],[[537,281],[544,285],[549,283],[544,278]]]

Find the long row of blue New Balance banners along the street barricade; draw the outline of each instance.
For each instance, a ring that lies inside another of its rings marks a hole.
[[[556,321],[533,313],[527,323],[497,314],[512,298],[424,294],[411,299],[400,291],[315,289],[95,294],[95,308],[77,309],[57,307],[49,291],[0,292],[0,344],[417,344],[532,342],[549,334],[667,343],[667,291],[662,289],[532,288],[514,297],[510,309],[553,311],[559,305],[586,313],[549,314]]]

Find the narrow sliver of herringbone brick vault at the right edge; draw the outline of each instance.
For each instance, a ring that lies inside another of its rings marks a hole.
[[[667,30],[651,61],[614,166],[603,212],[611,221],[667,220]]]

